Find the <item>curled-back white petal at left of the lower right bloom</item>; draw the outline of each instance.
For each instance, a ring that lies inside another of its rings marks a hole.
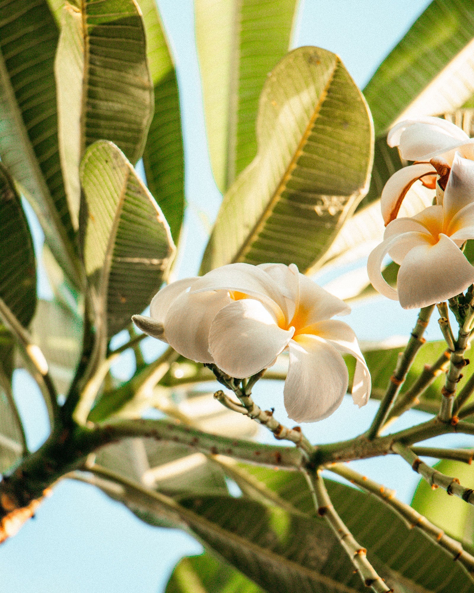
[[[390,222],[390,224],[392,224],[392,222]],[[397,253],[402,253],[402,250],[405,250],[406,256],[412,248],[417,247],[420,244],[426,244],[428,240],[428,235],[422,232],[412,231],[396,235],[386,241],[382,241],[380,245],[377,245],[367,260],[367,273],[369,274],[369,279],[374,289],[384,295],[384,297],[391,298],[393,301],[398,301],[397,291],[385,281],[382,272],[380,271],[383,258],[392,250],[397,250]]]

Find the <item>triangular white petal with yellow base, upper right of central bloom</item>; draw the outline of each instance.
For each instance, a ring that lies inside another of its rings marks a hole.
[[[308,276],[300,274],[299,281],[300,294],[296,312],[299,327],[310,326],[333,315],[347,315],[351,312],[351,308],[344,301],[325,291]]]

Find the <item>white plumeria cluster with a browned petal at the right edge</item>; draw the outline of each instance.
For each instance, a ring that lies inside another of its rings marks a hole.
[[[401,122],[387,141],[415,163],[393,174],[383,189],[384,240],[370,254],[367,272],[374,288],[403,308],[426,307],[474,282],[474,267],[460,250],[474,238],[474,142],[437,117]],[[436,204],[411,218],[396,218],[418,179],[430,187],[435,181]],[[386,254],[400,264],[396,289],[380,272]]]

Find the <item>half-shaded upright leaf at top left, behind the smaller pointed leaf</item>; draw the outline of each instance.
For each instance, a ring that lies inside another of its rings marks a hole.
[[[153,86],[143,20],[133,0],[86,0],[79,8],[66,2],[63,18],[55,60],[59,148],[77,229],[85,149],[107,139],[135,164],[153,116]]]

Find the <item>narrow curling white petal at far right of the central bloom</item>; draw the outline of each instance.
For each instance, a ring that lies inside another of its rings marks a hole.
[[[358,407],[365,406],[369,401],[371,380],[366,359],[357,342],[354,330],[344,323],[335,319],[321,321],[313,326],[316,335],[324,338],[332,344],[339,352],[351,354],[356,359],[352,398]]]

